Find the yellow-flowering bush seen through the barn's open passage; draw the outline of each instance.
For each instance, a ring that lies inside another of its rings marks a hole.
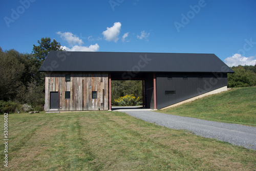
[[[142,103],[141,99],[139,97],[135,97],[133,94],[119,97],[118,99],[115,99],[114,102],[117,106],[134,106]]]

